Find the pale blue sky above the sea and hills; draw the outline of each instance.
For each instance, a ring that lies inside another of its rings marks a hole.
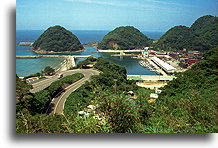
[[[134,26],[166,32],[191,26],[204,15],[218,16],[218,0],[17,0],[16,29],[113,30]]]

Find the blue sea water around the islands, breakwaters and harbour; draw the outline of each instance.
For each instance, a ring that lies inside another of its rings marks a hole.
[[[81,43],[101,41],[110,31],[107,30],[72,30]],[[43,33],[43,30],[17,30],[16,44],[20,42],[34,42]],[[157,40],[164,32],[142,31],[147,37]],[[85,50],[80,53],[71,53],[70,55],[92,55],[95,57],[107,58],[109,61],[124,66],[128,75],[156,75],[155,72],[139,65],[138,59],[131,57],[111,57],[112,53],[98,53],[93,46],[85,46]],[[37,55],[30,51],[29,46],[16,46],[16,55]],[[60,53],[58,55],[69,55],[69,53]],[[76,63],[84,59],[76,59]],[[20,77],[28,76],[41,72],[46,66],[58,69],[64,62],[64,58],[37,58],[37,59],[16,59],[16,74]]]

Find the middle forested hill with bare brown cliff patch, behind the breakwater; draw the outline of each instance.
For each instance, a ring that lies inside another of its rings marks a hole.
[[[130,50],[148,46],[147,36],[132,26],[118,27],[104,36],[98,49]]]

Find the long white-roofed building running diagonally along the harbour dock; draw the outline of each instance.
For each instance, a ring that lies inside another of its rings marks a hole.
[[[162,61],[157,57],[151,57],[150,59],[167,73],[174,73],[176,70],[173,66],[169,65],[168,63]]]

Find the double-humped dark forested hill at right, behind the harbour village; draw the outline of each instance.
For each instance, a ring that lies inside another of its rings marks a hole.
[[[218,18],[206,15],[192,26],[176,26],[168,30],[155,45],[163,50],[209,50],[218,47]]]

